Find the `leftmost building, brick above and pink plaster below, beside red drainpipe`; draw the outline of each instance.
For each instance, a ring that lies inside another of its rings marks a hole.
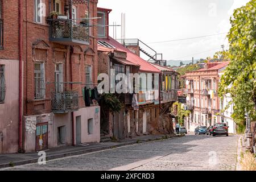
[[[0,154],[19,148],[18,11],[17,1],[0,1]]]

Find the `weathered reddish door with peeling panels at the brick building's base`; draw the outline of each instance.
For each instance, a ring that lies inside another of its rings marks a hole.
[[[36,125],[36,151],[48,149],[48,122]]]

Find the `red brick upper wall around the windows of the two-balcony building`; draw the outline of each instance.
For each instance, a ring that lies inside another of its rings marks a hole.
[[[98,75],[98,61],[97,61],[97,27],[91,29],[90,46],[74,46],[69,47],[57,43],[49,42],[49,26],[46,20],[43,23],[34,22],[34,1],[23,1],[23,42],[24,42],[24,115],[43,114],[51,111],[51,92],[55,90],[54,84],[46,84],[46,96],[44,100],[34,99],[34,63],[35,63],[35,48],[45,50],[46,60],[45,66],[45,82],[55,81],[55,63],[56,54],[63,53],[63,75],[64,82],[71,81],[71,67],[72,67],[72,81],[85,82],[85,65],[92,65],[93,82],[97,83]],[[46,15],[48,15],[48,1],[46,3]],[[62,3],[64,5],[64,1]],[[86,5],[77,6],[77,18],[84,18],[85,10],[88,10]],[[53,9],[53,4],[52,4]],[[97,16],[97,1],[90,1],[90,15]],[[25,16],[27,14],[27,16]],[[39,40],[42,40],[39,42]],[[39,42],[39,43],[38,43]],[[33,44],[36,46],[33,46]],[[71,56],[71,51],[73,52]],[[71,60],[70,60],[71,58]],[[71,64],[71,66],[70,66]],[[65,90],[79,91],[79,106],[84,107],[82,98],[82,87],[85,85],[71,85],[64,84]]]

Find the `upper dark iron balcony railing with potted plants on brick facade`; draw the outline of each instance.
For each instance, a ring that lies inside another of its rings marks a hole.
[[[48,19],[49,41],[68,46],[89,45],[89,23],[69,19]]]

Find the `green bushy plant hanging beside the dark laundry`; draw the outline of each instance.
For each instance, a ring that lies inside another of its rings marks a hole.
[[[112,114],[119,113],[119,111],[122,109],[122,103],[118,100],[118,98],[114,94],[102,94],[102,106],[106,109],[109,109],[109,111]]]

